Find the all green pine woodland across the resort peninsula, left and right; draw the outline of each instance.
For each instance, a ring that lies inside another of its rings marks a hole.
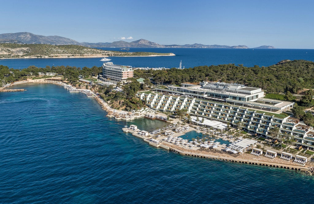
[[[6,83],[11,83],[26,78],[33,78],[38,76],[38,72],[56,72],[62,75],[72,84],[77,83],[78,76],[82,75],[84,78],[89,76],[97,76],[101,72],[101,67],[71,67],[71,66],[46,66],[39,68],[30,66],[28,68],[18,70],[9,69],[7,66],[0,65],[0,86]],[[32,73],[32,76],[30,76]],[[111,101],[124,101],[120,106],[126,109],[133,109],[138,107],[141,103],[136,99],[135,93],[138,90],[149,90],[153,88],[153,83],[163,85],[173,84],[179,85],[182,82],[200,82],[200,81],[218,81],[236,82],[252,87],[260,87],[266,92],[266,97],[280,100],[295,101],[292,93],[304,94],[302,99],[297,100],[300,110],[303,111],[305,107],[314,106],[312,95],[313,91],[304,91],[304,89],[314,88],[314,62],[306,60],[286,61],[271,65],[268,67],[245,67],[243,65],[211,65],[198,66],[188,69],[164,69],[164,70],[134,70],[134,77],[144,78],[144,84],[139,84],[136,80],[130,79],[130,83],[123,85],[123,93],[118,93],[113,90],[113,87],[100,88],[103,98]],[[284,94],[284,95],[279,95]],[[125,100],[124,100],[125,99]],[[128,103],[129,102],[129,103]],[[119,106],[118,104],[116,107]],[[142,106],[142,104],[140,105]],[[299,109],[298,109],[299,110]],[[299,111],[300,112],[300,111]],[[305,115],[296,114],[299,118]],[[307,119],[307,123],[314,124],[314,118]]]

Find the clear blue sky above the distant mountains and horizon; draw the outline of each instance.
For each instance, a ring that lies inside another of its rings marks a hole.
[[[314,1],[1,0],[0,5],[0,33],[89,43],[143,38],[159,44],[314,48]]]

